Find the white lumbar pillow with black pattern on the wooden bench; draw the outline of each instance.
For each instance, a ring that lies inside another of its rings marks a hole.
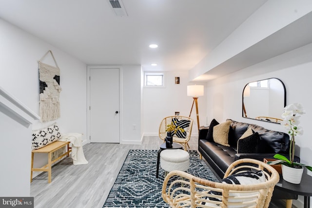
[[[61,134],[57,123],[48,127],[32,130],[32,150],[37,150],[56,140],[59,140]]]

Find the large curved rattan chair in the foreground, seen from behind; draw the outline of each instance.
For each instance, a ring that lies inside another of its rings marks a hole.
[[[164,179],[162,198],[172,208],[268,208],[274,186],[279,181],[278,172],[261,161],[240,159],[229,166],[224,177],[244,170],[264,170],[267,179],[259,184],[233,185],[201,179],[174,170]],[[168,186],[169,180],[172,182]],[[222,194],[212,195],[210,190]],[[209,197],[219,201],[210,200]]]

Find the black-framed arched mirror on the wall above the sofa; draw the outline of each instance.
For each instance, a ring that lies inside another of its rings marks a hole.
[[[280,123],[286,106],[286,88],[277,78],[248,83],[243,90],[243,117]]]

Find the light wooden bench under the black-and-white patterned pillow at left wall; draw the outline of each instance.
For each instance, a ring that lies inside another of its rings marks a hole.
[[[72,148],[69,147],[70,142],[61,142],[61,141],[55,141],[51,144],[48,144],[47,146],[44,146],[38,150],[33,150],[31,152],[31,172],[30,172],[30,182],[33,181],[33,171],[46,171],[48,172],[48,183],[51,183],[51,166],[54,162],[62,158],[67,154],[67,157],[69,156],[69,153],[72,151]],[[65,153],[60,155],[58,158],[52,160],[52,154],[54,151],[59,150],[62,147],[67,146],[67,150]],[[41,168],[34,168],[34,154],[35,153],[48,153],[48,164],[42,166]]]

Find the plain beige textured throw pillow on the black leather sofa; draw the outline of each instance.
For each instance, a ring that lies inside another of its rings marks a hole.
[[[229,145],[229,131],[232,121],[226,121],[220,123],[214,127],[213,137],[215,143],[218,143],[223,146],[230,147]]]

